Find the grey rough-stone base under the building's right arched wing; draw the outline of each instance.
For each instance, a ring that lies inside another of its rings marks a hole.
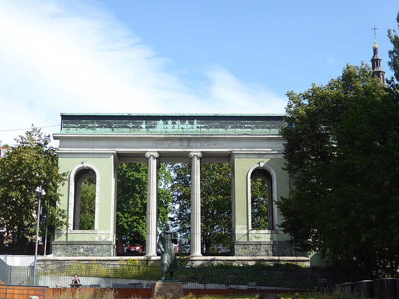
[[[287,241],[237,241],[233,255],[239,257],[292,257],[294,249]]]

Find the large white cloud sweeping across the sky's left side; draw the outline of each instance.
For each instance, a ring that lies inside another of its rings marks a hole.
[[[56,125],[62,112],[283,113],[286,104],[218,66],[193,90],[131,29],[82,2],[0,0],[0,45],[0,130]]]

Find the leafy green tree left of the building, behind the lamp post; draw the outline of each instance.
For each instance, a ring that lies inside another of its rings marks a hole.
[[[0,159],[0,221],[6,228],[6,242],[15,252],[23,252],[28,238],[36,234],[37,186],[47,193],[41,198],[40,235],[45,230],[44,220],[48,220],[49,231],[67,224],[66,211],[57,208],[61,196],[57,187],[64,183],[66,174],[58,172],[58,155],[49,146],[49,135],[32,126],[15,141],[16,146]]]

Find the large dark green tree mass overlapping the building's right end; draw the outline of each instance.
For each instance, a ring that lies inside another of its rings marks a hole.
[[[288,93],[284,232],[305,251],[378,274],[398,265],[398,98],[369,66]]]

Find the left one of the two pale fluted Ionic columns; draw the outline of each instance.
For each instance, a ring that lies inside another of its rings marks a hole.
[[[146,256],[157,255],[157,157],[158,152],[146,152],[148,158]]]

